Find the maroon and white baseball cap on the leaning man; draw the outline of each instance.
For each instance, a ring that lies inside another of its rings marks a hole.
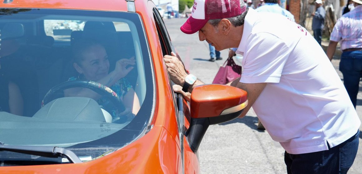
[[[180,29],[186,34],[194,34],[205,26],[209,19],[235,17],[245,10],[246,6],[240,8],[239,0],[194,0],[191,17]]]

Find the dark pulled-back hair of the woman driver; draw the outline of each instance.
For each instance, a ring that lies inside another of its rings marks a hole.
[[[78,66],[81,66],[81,62],[83,61],[83,54],[88,52],[90,48],[93,46],[102,46],[95,40],[92,39],[80,39],[74,42],[72,46],[72,57],[73,62],[77,63]],[[103,47],[103,46],[102,46]]]

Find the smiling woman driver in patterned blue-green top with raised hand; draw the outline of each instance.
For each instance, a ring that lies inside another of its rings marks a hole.
[[[134,57],[130,59],[119,59],[115,69],[109,72],[109,60],[104,46],[96,41],[83,39],[77,41],[72,48],[73,67],[79,73],[77,77],[70,77],[69,80],[91,80],[109,86],[120,97],[125,104],[126,110],[119,113],[112,110],[113,117],[136,115],[140,109],[137,94],[133,90],[130,82],[124,78],[134,67]],[[85,88],[71,88],[64,90],[66,97],[88,97],[98,103],[106,104],[107,99],[100,94]]]

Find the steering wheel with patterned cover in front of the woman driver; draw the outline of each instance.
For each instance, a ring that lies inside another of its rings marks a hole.
[[[108,88],[105,85],[102,85],[100,83],[94,82],[94,81],[83,81],[83,80],[71,80],[62,82],[59,85],[54,86],[51,88],[47,94],[44,96],[44,99],[42,101],[42,107],[45,106],[50,101],[54,100],[56,98],[57,93],[62,92],[65,89],[69,88],[88,88],[90,90],[93,90],[94,92],[104,96],[110,103],[112,104],[111,107],[104,106],[105,110],[107,110],[110,114],[110,108],[114,108],[115,110],[118,110],[119,113],[125,111],[125,106],[123,105],[123,102],[121,99],[119,99],[117,93],[115,93],[113,90]],[[108,105],[108,104],[107,104]]]

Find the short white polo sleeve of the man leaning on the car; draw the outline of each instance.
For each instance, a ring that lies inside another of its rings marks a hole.
[[[279,83],[289,55],[287,45],[275,35],[257,33],[249,36],[240,82]]]

